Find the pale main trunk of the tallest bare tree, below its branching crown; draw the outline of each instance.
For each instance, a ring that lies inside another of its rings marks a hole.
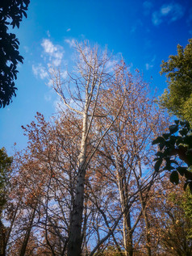
[[[80,256],[81,255],[81,224],[83,213],[83,201],[84,201],[84,187],[86,176],[86,132],[87,132],[87,114],[86,111],[83,115],[83,130],[81,138],[81,153],[79,155],[79,168],[77,174],[77,187],[73,202],[73,211],[71,214],[71,229],[69,233],[69,246],[68,256]]]

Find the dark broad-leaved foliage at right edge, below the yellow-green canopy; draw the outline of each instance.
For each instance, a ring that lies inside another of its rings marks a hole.
[[[169,132],[157,137],[152,145],[159,145],[159,151],[154,159],[155,170],[160,171],[162,163],[163,170],[169,170],[170,181],[179,183],[179,174],[185,176],[186,186],[189,185],[192,193],[192,129],[189,122],[176,120],[175,124],[169,126]],[[173,158],[176,158],[173,159]],[[177,160],[178,159],[178,160]]]

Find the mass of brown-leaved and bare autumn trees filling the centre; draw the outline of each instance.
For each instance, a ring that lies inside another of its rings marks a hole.
[[[15,153],[3,212],[6,254],[181,255],[174,237],[190,245],[189,207],[174,203],[181,195],[153,162],[165,114],[138,70],[89,44],[76,49],[69,80],[50,74],[61,111],[23,127],[28,145]]]

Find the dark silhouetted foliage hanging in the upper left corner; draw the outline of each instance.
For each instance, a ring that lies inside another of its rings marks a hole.
[[[19,28],[23,15],[30,0],[1,0],[0,1],[0,107],[9,105],[15,96],[14,80],[17,78],[17,65],[23,63],[19,55],[19,40],[15,34],[8,32],[8,26]]]

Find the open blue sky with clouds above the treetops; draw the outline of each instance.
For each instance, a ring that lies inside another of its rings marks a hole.
[[[140,0],[31,0],[19,30],[18,87],[13,103],[0,109],[0,148],[12,154],[26,146],[21,125],[30,124],[36,111],[46,118],[56,113],[56,94],[48,85],[48,65],[70,67],[73,40],[90,40],[114,54],[121,53],[131,69],[161,94],[165,77],[162,60],[177,53],[192,38],[192,2]]]

